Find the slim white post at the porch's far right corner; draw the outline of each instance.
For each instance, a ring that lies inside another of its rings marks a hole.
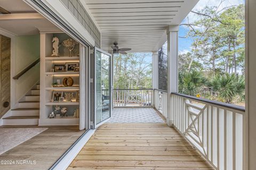
[[[158,51],[152,52],[152,86],[158,89]]]

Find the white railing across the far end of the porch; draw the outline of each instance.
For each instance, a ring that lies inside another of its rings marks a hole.
[[[114,107],[152,107],[153,89],[114,89]]]

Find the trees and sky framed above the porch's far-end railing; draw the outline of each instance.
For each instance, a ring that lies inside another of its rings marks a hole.
[[[114,88],[152,88],[152,54],[114,55]]]

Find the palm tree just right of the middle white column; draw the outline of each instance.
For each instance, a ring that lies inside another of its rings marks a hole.
[[[194,96],[200,89],[207,84],[208,80],[203,73],[193,70],[190,72],[179,73],[179,92]]]

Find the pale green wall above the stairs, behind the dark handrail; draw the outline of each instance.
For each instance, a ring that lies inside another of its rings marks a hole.
[[[17,36],[15,48],[15,74],[18,74],[40,57],[40,36]],[[40,64],[38,63],[18,80],[14,81],[15,101],[18,102],[39,80]]]

